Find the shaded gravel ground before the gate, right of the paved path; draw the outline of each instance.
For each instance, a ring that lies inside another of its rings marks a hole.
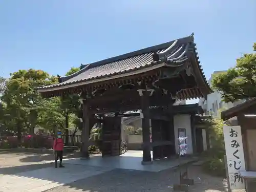
[[[190,173],[197,173],[199,167],[190,167]],[[197,173],[199,174],[199,173]],[[190,192],[205,192],[205,191],[226,191],[223,187],[222,178],[208,178],[207,175],[201,175],[200,181],[196,178],[197,174],[193,177],[195,181],[194,186],[189,187]],[[170,186],[178,182],[179,169],[167,169],[158,173],[145,172],[139,170],[127,170],[127,169],[114,169],[109,172],[81,179],[70,184],[66,184],[60,187],[55,187],[44,192],[78,192],[78,191],[90,191],[90,192],[133,192],[133,191],[154,191],[154,192],[169,192]],[[190,177],[192,178],[192,176]],[[205,183],[205,180],[210,179]]]

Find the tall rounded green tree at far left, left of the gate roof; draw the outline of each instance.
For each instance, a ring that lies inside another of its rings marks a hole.
[[[34,69],[19,70],[6,81],[6,89],[2,95],[6,124],[14,124],[12,130],[17,133],[19,142],[22,132],[34,133],[37,124],[42,98],[36,88],[56,82],[56,77]]]

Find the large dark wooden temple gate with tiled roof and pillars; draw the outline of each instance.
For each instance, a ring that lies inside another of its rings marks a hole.
[[[175,153],[173,116],[169,113],[175,100],[205,97],[211,91],[196,50],[192,34],[83,65],[77,73],[38,91],[44,97],[81,95],[83,158],[89,157],[88,135],[96,121],[102,122],[102,156],[120,155],[121,117],[127,111],[141,110],[142,163],[149,163],[151,147],[154,159]]]

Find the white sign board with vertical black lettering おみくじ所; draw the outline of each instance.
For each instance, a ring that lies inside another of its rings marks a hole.
[[[245,170],[244,149],[240,126],[223,126],[230,189],[244,189],[239,172]]]

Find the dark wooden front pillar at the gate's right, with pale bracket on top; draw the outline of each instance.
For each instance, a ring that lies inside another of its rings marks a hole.
[[[149,164],[151,161],[151,143],[150,143],[150,92],[147,90],[138,90],[141,96],[141,113],[142,118],[142,148],[143,159],[141,164]]]

